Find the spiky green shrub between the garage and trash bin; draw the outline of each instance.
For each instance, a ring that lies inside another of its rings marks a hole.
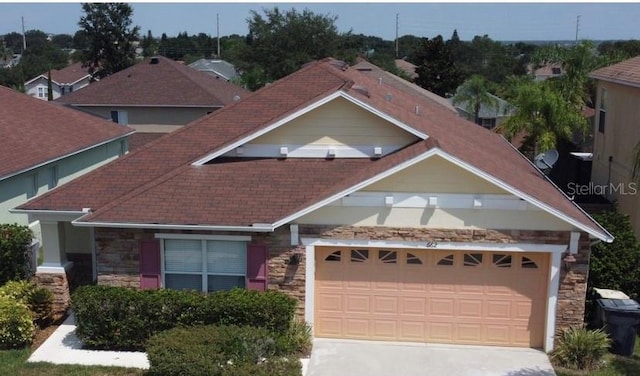
[[[561,367],[594,370],[602,364],[611,340],[602,329],[570,328],[562,332],[551,359]]]

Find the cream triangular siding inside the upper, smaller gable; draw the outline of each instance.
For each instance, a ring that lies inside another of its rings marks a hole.
[[[418,138],[344,98],[336,98],[250,145],[404,146]]]

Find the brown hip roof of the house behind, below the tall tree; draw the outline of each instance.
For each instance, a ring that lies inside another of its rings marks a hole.
[[[250,93],[171,59],[155,59],[157,64],[145,59],[57,101],[77,106],[222,107],[233,103],[235,96],[244,98]]]

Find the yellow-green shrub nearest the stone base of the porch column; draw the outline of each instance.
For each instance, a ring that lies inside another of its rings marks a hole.
[[[53,311],[53,294],[30,281],[9,281],[0,287],[0,295],[19,300],[31,310],[33,320],[45,324]]]

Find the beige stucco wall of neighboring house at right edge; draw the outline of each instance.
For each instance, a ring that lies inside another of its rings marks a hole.
[[[600,81],[596,110],[600,108],[603,88],[607,91],[606,120],[601,133],[596,113],[591,179],[599,192],[594,193],[618,201],[619,209],[631,216],[635,232],[640,235],[640,187],[631,181],[633,151],[640,142],[640,88]]]

